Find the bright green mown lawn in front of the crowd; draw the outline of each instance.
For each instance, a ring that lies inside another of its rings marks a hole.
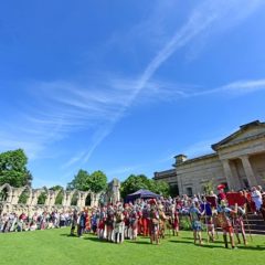
[[[220,236],[221,239],[221,236]],[[253,236],[247,246],[225,250],[221,241],[195,246],[192,232],[167,237],[160,245],[148,239],[121,245],[99,242],[94,235],[68,236],[68,229],[0,234],[0,264],[264,264],[265,236]]]

